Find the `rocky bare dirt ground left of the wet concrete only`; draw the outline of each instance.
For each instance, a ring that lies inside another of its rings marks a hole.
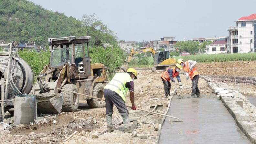
[[[161,80],[162,71],[152,73],[151,70],[138,70],[138,79],[135,83],[135,104],[138,108],[150,110],[150,106],[165,105],[167,98],[164,94],[164,86]],[[185,83],[185,75],[180,75],[182,83]],[[191,80],[187,82],[191,86]],[[199,79],[199,87],[205,87],[206,82]],[[172,83],[171,91],[180,87]],[[210,91],[208,87],[203,90]],[[179,90],[177,90],[179,92]],[[190,94],[191,88],[184,89],[182,94]],[[129,97],[126,100],[127,105],[131,105]],[[164,113],[166,106],[156,112]],[[85,131],[81,136],[74,139],[77,143],[154,143],[159,122],[162,116],[149,115],[144,117],[147,112],[132,110],[128,108],[130,118],[138,118],[138,124],[131,122],[133,129],[138,131],[138,137],[132,137],[130,133],[124,133],[123,125],[114,129],[112,133],[105,133],[99,136],[99,139],[91,139],[91,135],[99,133],[106,129],[105,108],[89,108],[86,101],[80,101],[79,110],[76,112],[65,113],[59,115],[40,115],[39,122],[35,122],[31,126],[19,127],[10,131],[2,131],[0,140],[5,143],[60,143],[66,139],[74,131]],[[178,116],[175,116],[178,117]],[[46,120],[45,120],[46,119]],[[122,120],[121,115],[114,107],[112,116],[113,122]],[[9,118],[10,123],[13,119]],[[57,124],[52,121],[56,120]],[[46,123],[47,122],[47,123]],[[143,123],[144,124],[143,124]],[[35,132],[31,133],[31,132]],[[146,139],[140,139],[140,136],[146,136]]]

